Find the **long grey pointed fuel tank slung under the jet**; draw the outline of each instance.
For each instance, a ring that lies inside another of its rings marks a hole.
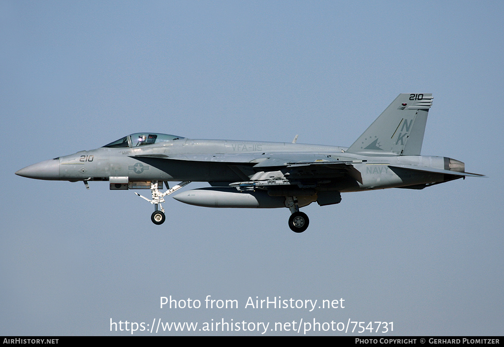
[[[210,187],[187,190],[173,196],[175,200],[203,207],[238,207],[274,209],[286,207],[285,196],[270,196],[267,191],[238,191],[236,188]],[[299,206],[306,206],[316,197],[304,197]]]

